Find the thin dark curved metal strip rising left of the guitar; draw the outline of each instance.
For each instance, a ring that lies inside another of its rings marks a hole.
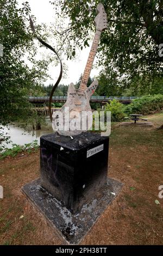
[[[28,15],[29,15],[29,14],[28,14]],[[29,15],[29,20],[30,20],[30,27],[32,28],[32,31],[33,31],[33,33],[34,33],[34,35],[35,35],[35,38],[36,38],[37,40],[39,40],[39,42],[41,42],[42,45],[44,45],[44,46],[46,46],[47,48],[49,48],[50,50],[52,50],[52,51],[57,55],[57,57],[58,57],[58,59],[59,59],[59,61],[60,61],[60,74],[59,74],[58,80],[57,80],[57,82],[54,84],[54,87],[53,87],[53,89],[52,89],[52,92],[51,92],[51,94],[50,94],[50,96],[49,96],[49,117],[50,117],[50,119],[51,119],[51,121],[52,121],[52,97],[53,97],[54,91],[55,91],[55,89],[57,88],[57,86],[58,86],[58,84],[59,84],[59,82],[60,82],[60,80],[61,80],[61,77],[62,77],[62,63],[61,63],[61,59],[60,59],[58,53],[55,51],[55,49],[54,49],[51,45],[47,44],[47,42],[43,41],[39,36],[37,36],[37,34],[35,33],[33,20],[31,19],[30,15]]]

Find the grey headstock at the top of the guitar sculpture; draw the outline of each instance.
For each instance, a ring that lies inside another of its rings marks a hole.
[[[102,3],[97,5],[97,16],[95,18],[95,26],[99,31],[103,31],[107,28],[107,15]]]

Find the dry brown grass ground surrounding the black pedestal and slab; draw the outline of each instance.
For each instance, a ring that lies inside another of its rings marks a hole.
[[[83,245],[162,245],[163,113],[149,115],[153,127],[113,126],[109,173],[124,186]],[[39,150],[0,161],[0,243],[5,245],[60,245],[46,221],[21,193],[21,187],[39,177]],[[160,204],[156,204],[158,200]]]

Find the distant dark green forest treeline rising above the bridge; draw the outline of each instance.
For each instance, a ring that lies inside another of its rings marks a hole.
[[[155,78],[153,83],[148,80],[144,80],[145,86],[142,89],[141,82],[139,80],[133,81],[126,86],[121,85],[120,82],[116,80],[110,81],[104,74],[98,76],[98,87],[96,92],[93,95],[99,96],[145,96],[145,95],[154,95],[154,94],[163,94],[163,80],[162,78]],[[79,77],[79,81],[75,84],[75,87],[78,88],[82,80],[82,74]],[[87,87],[93,82],[93,78],[89,78],[87,82]],[[49,86],[41,86],[39,92],[35,96],[49,96],[53,84]],[[54,96],[66,96],[68,90],[68,85],[60,84],[54,92]]]

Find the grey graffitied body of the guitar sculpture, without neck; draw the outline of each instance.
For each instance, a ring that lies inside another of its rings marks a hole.
[[[92,110],[90,97],[95,92],[97,86],[98,81],[95,80],[90,87],[80,91],[80,89],[74,88],[73,83],[70,84],[66,103],[62,106],[59,113],[58,111],[53,112],[52,126],[54,131],[58,131],[60,135],[72,136],[91,128]],[[65,125],[66,120],[68,121],[67,126]]]

